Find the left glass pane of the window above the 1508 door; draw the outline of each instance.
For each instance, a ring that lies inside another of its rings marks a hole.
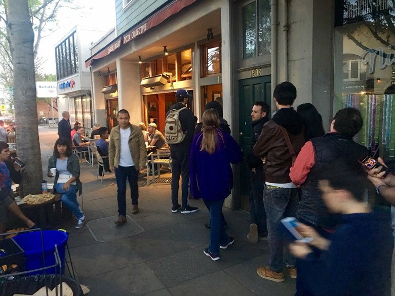
[[[255,1],[243,7],[243,58],[256,56]]]

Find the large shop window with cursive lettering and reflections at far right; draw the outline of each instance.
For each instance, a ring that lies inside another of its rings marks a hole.
[[[355,140],[395,159],[395,10],[393,1],[336,2],[334,113],[361,111]]]

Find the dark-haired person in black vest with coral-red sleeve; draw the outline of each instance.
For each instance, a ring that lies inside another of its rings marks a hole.
[[[314,227],[321,235],[328,237],[336,227],[336,216],[328,212],[318,179],[321,172],[338,158],[357,161],[368,154],[368,149],[352,140],[363,124],[360,111],[344,108],[338,111],[331,123],[331,131],[308,141],[300,150],[291,168],[292,182],[301,186],[301,199],[296,212],[304,224]]]

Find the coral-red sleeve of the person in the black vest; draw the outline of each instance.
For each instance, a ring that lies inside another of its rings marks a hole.
[[[311,167],[314,165],[314,149],[311,141],[306,142],[300,150],[289,177],[295,185],[302,185],[306,181]]]

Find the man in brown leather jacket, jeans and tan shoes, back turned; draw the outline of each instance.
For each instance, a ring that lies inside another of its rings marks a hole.
[[[303,122],[292,108],[296,88],[290,82],[280,83],[274,89],[277,113],[262,129],[253,148],[254,155],[265,158],[265,188],[263,203],[267,215],[269,266],[259,267],[257,273],[275,282],[285,280],[283,273],[283,233],[280,221],[294,217],[298,205],[297,188],[289,177],[293,159],[304,145]],[[287,144],[288,142],[288,144]],[[292,152],[292,153],[291,153]],[[294,154],[294,155],[291,155]],[[288,256],[286,269],[291,278],[296,278],[295,258]]]

